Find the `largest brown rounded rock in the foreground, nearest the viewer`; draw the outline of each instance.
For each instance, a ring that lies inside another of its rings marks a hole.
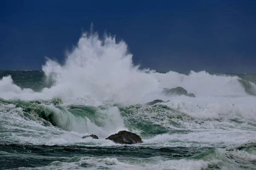
[[[128,132],[126,130],[119,131],[116,134],[113,134],[111,136],[108,136],[108,138],[115,143],[119,144],[136,144],[136,143],[142,143],[142,140],[139,135],[135,133]]]

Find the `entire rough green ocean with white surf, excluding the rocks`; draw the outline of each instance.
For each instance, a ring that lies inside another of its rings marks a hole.
[[[256,170],[256,74],[140,69],[127,49],[83,34],[63,64],[0,71],[0,169]],[[105,139],[120,130],[143,143]]]

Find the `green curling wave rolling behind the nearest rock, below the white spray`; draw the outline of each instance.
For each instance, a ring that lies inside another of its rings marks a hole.
[[[79,133],[97,133],[106,136],[116,133],[116,129],[127,129],[140,134],[143,138],[160,134],[185,134],[195,130],[207,129],[211,122],[244,124],[241,118],[196,118],[163,104],[148,105],[106,105],[82,106],[63,105],[61,99],[45,101],[0,100],[1,105],[14,105],[22,111],[24,119],[40,122],[44,126],[55,126],[67,131]],[[201,106],[198,106],[200,108]],[[115,113],[115,114],[113,114]],[[255,122],[247,122],[251,127]],[[196,127],[197,128],[192,128]],[[105,129],[105,130],[104,130]],[[109,130],[109,131],[108,131]],[[104,134],[106,133],[106,134]]]

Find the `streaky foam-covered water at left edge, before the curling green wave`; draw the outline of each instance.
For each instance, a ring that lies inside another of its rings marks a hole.
[[[32,118],[33,119],[33,118]],[[63,130],[44,126],[36,119],[26,119],[21,108],[0,104],[0,127],[2,142],[39,143],[59,136]]]

